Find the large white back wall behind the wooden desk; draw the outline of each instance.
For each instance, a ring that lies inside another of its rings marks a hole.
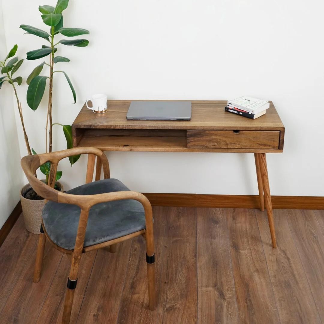
[[[43,43],[18,28],[44,28],[39,4],[3,3],[7,47],[17,42],[21,56]],[[268,155],[272,194],[324,196],[323,10],[315,0],[70,0],[64,26],[89,29],[90,45],[59,46],[57,54],[71,62],[57,68],[71,77],[77,103],[57,74],[53,120],[71,124],[94,93],[111,99],[269,99],[286,127],[284,153]],[[22,75],[42,60],[25,62]],[[46,100],[33,112],[26,90],[20,87],[30,142],[42,152]],[[55,131],[54,149],[65,148],[61,130]],[[133,190],[257,194],[252,154],[119,152],[109,158],[112,176]],[[85,157],[72,169],[63,162],[66,187],[83,183],[85,164]]]

